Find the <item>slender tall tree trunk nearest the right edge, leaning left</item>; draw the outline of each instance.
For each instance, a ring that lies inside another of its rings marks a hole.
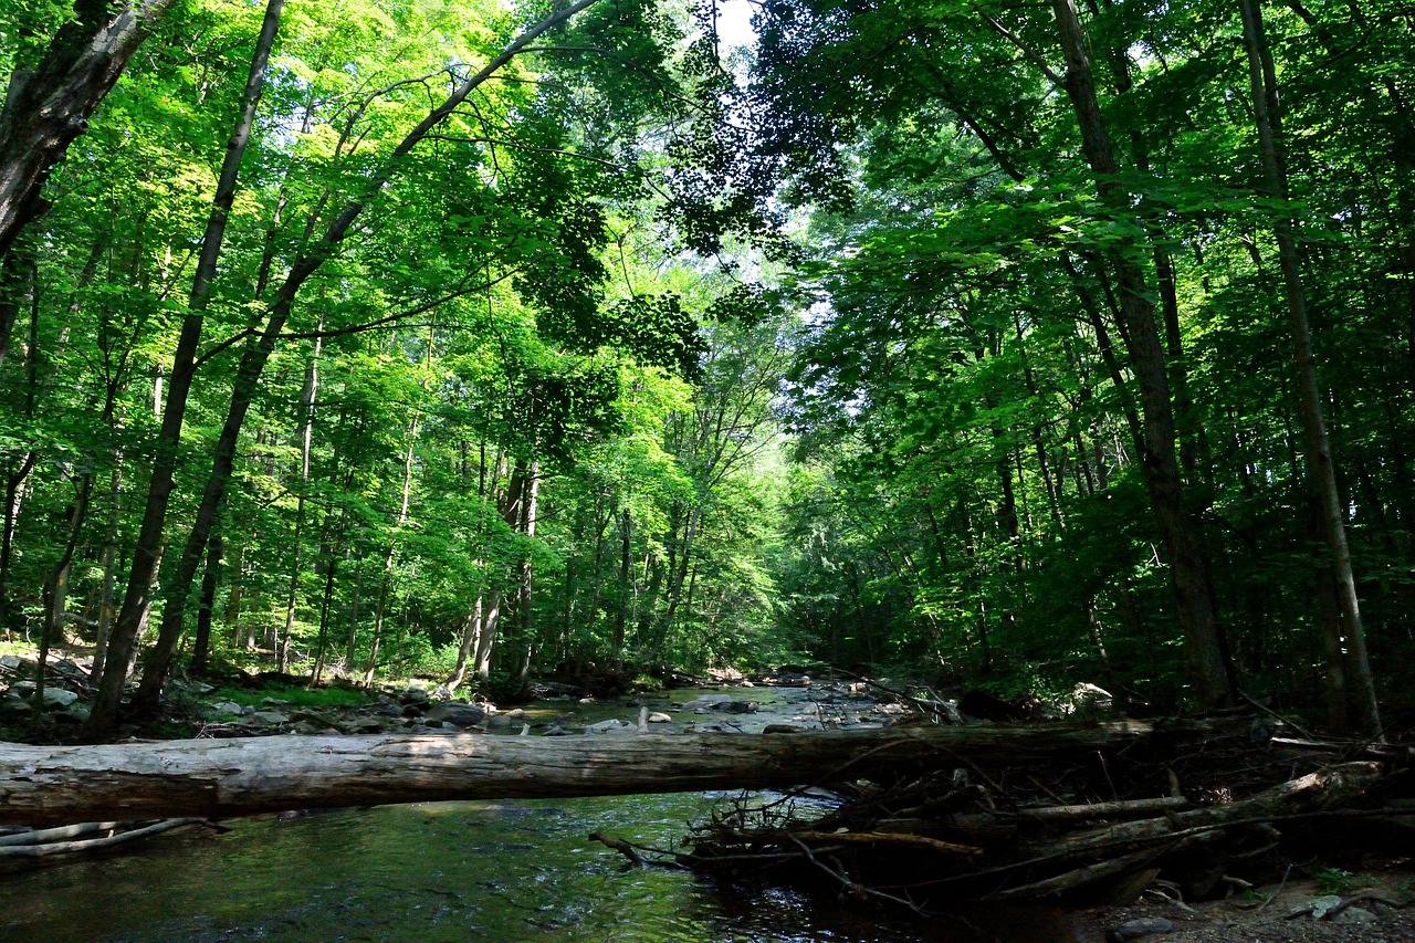
[[[1258,146],[1262,152],[1262,167],[1271,194],[1286,202],[1288,185],[1282,167],[1282,152],[1278,144],[1281,118],[1276,110],[1276,72],[1268,52],[1262,30],[1262,11],[1257,0],[1240,0],[1242,11],[1244,45],[1248,52],[1248,81],[1252,91],[1254,118],[1258,127]],[[1381,738],[1381,714],[1375,701],[1375,681],[1365,650],[1365,629],[1361,624],[1361,606],[1356,595],[1356,578],[1351,573],[1351,551],[1346,539],[1346,514],[1337,488],[1336,466],[1332,460],[1332,445],[1327,440],[1326,422],[1322,415],[1322,391],[1317,384],[1316,362],[1312,355],[1312,331],[1307,321],[1306,292],[1298,259],[1298,244],[1293,235],[1290,211],[1274,221],[1274,235],[1278,242],[1278,262],[1282,266],[1282,280],[1288,296],[1288,316],[1292,328],[1292,351],[1298,372],[1298,416],[1302,422],[1306,452],[1307,480],[1316,496],[1322,520],[1322,534],[1330,554],[1332,579],[1336,583],[1337,605],[1341,612],[1344,640],[1327,641],[1329,657],[1340,650],[1350,651],[1348,667],[1356,681],[1356,705],[1361,725],[1371,736]],[[1334,673],[1329,673],[1333,677]]]

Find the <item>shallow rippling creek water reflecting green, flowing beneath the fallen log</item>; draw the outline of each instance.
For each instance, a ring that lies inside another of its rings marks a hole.
[[[674,691],[672,702],[709,694]],[[715,692],[713,692],[715,694]],[[815,712],[801,690],[734,691],[760,714],[675,712],[674,728],[766,722]],[[649,709],[672,711],[668,701]],[[542,702],[532,722],[637,722],[623,701]],[[825,712],[867,709],[846,702]],[[627,733],[631,735],[631,733]],[[665,733],[671,735],[671,733]],[[734,733],[722,733],[733,736]],[[674,847],[720,793],[429,803],[341,810],[231,830],[171,833],[102,858],[0,874],[0,940],[1073,940],[1050,909],[900,915],[795,891],[722,885],[686,871],[634,868],[591,831]]]

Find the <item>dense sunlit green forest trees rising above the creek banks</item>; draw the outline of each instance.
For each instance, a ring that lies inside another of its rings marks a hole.
[[[1408,722],[1409,10],[741,16],[0,11],[0,620],[89,733],[214,660]]]

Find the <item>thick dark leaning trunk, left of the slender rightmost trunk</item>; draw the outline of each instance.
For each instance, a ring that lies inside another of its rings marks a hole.
[[[1095,174],[1097,193],[1112,212],[1129,214],[1129,194],[1116,180],[1119,166],[1095,95],[1081,21],[1073,0],[1054,0],[1053,10],[1067,59],[1065,92],[1081,129],[1082,152]],[[1228,704],[1231,678],[1213,607],[1199,524],[1186,505],[1179,462],[1174,456],[1174,415],[1165,371],[1165,350],[1155,321],[1155,306],[1149,300],[1150,290],[1145,282],[1145,272],[1133,256],[1135,245],[1131,241],[1124,241],[1111,252],[1111,268],[1119,287],[1122,336],[1131,355],[1131,371],[1139,385],[1145,419],[1140,467],[1167,549],[1190,680],[1200,708],[1208,709]]]

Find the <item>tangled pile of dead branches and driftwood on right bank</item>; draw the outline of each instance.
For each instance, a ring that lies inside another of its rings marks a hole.
[[[1409,749],[1283,732],[1230,718],[1065,767],[959,756],[908,779],[836,783],[829,799],[744,796],[674,858],[931,912],[1054,895],[1124,903],[1146,888],[1210,899],[1353,844],[1411,847]]]

